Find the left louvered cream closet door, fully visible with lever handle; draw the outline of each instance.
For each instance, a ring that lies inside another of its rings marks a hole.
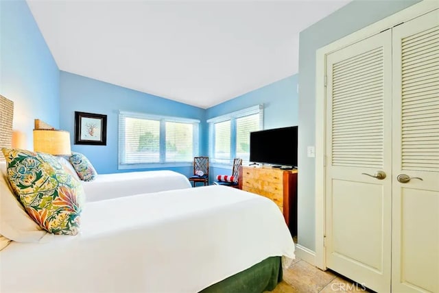
[[[327,267],[390,292],[391,31],[327,55],[327,81]]]

